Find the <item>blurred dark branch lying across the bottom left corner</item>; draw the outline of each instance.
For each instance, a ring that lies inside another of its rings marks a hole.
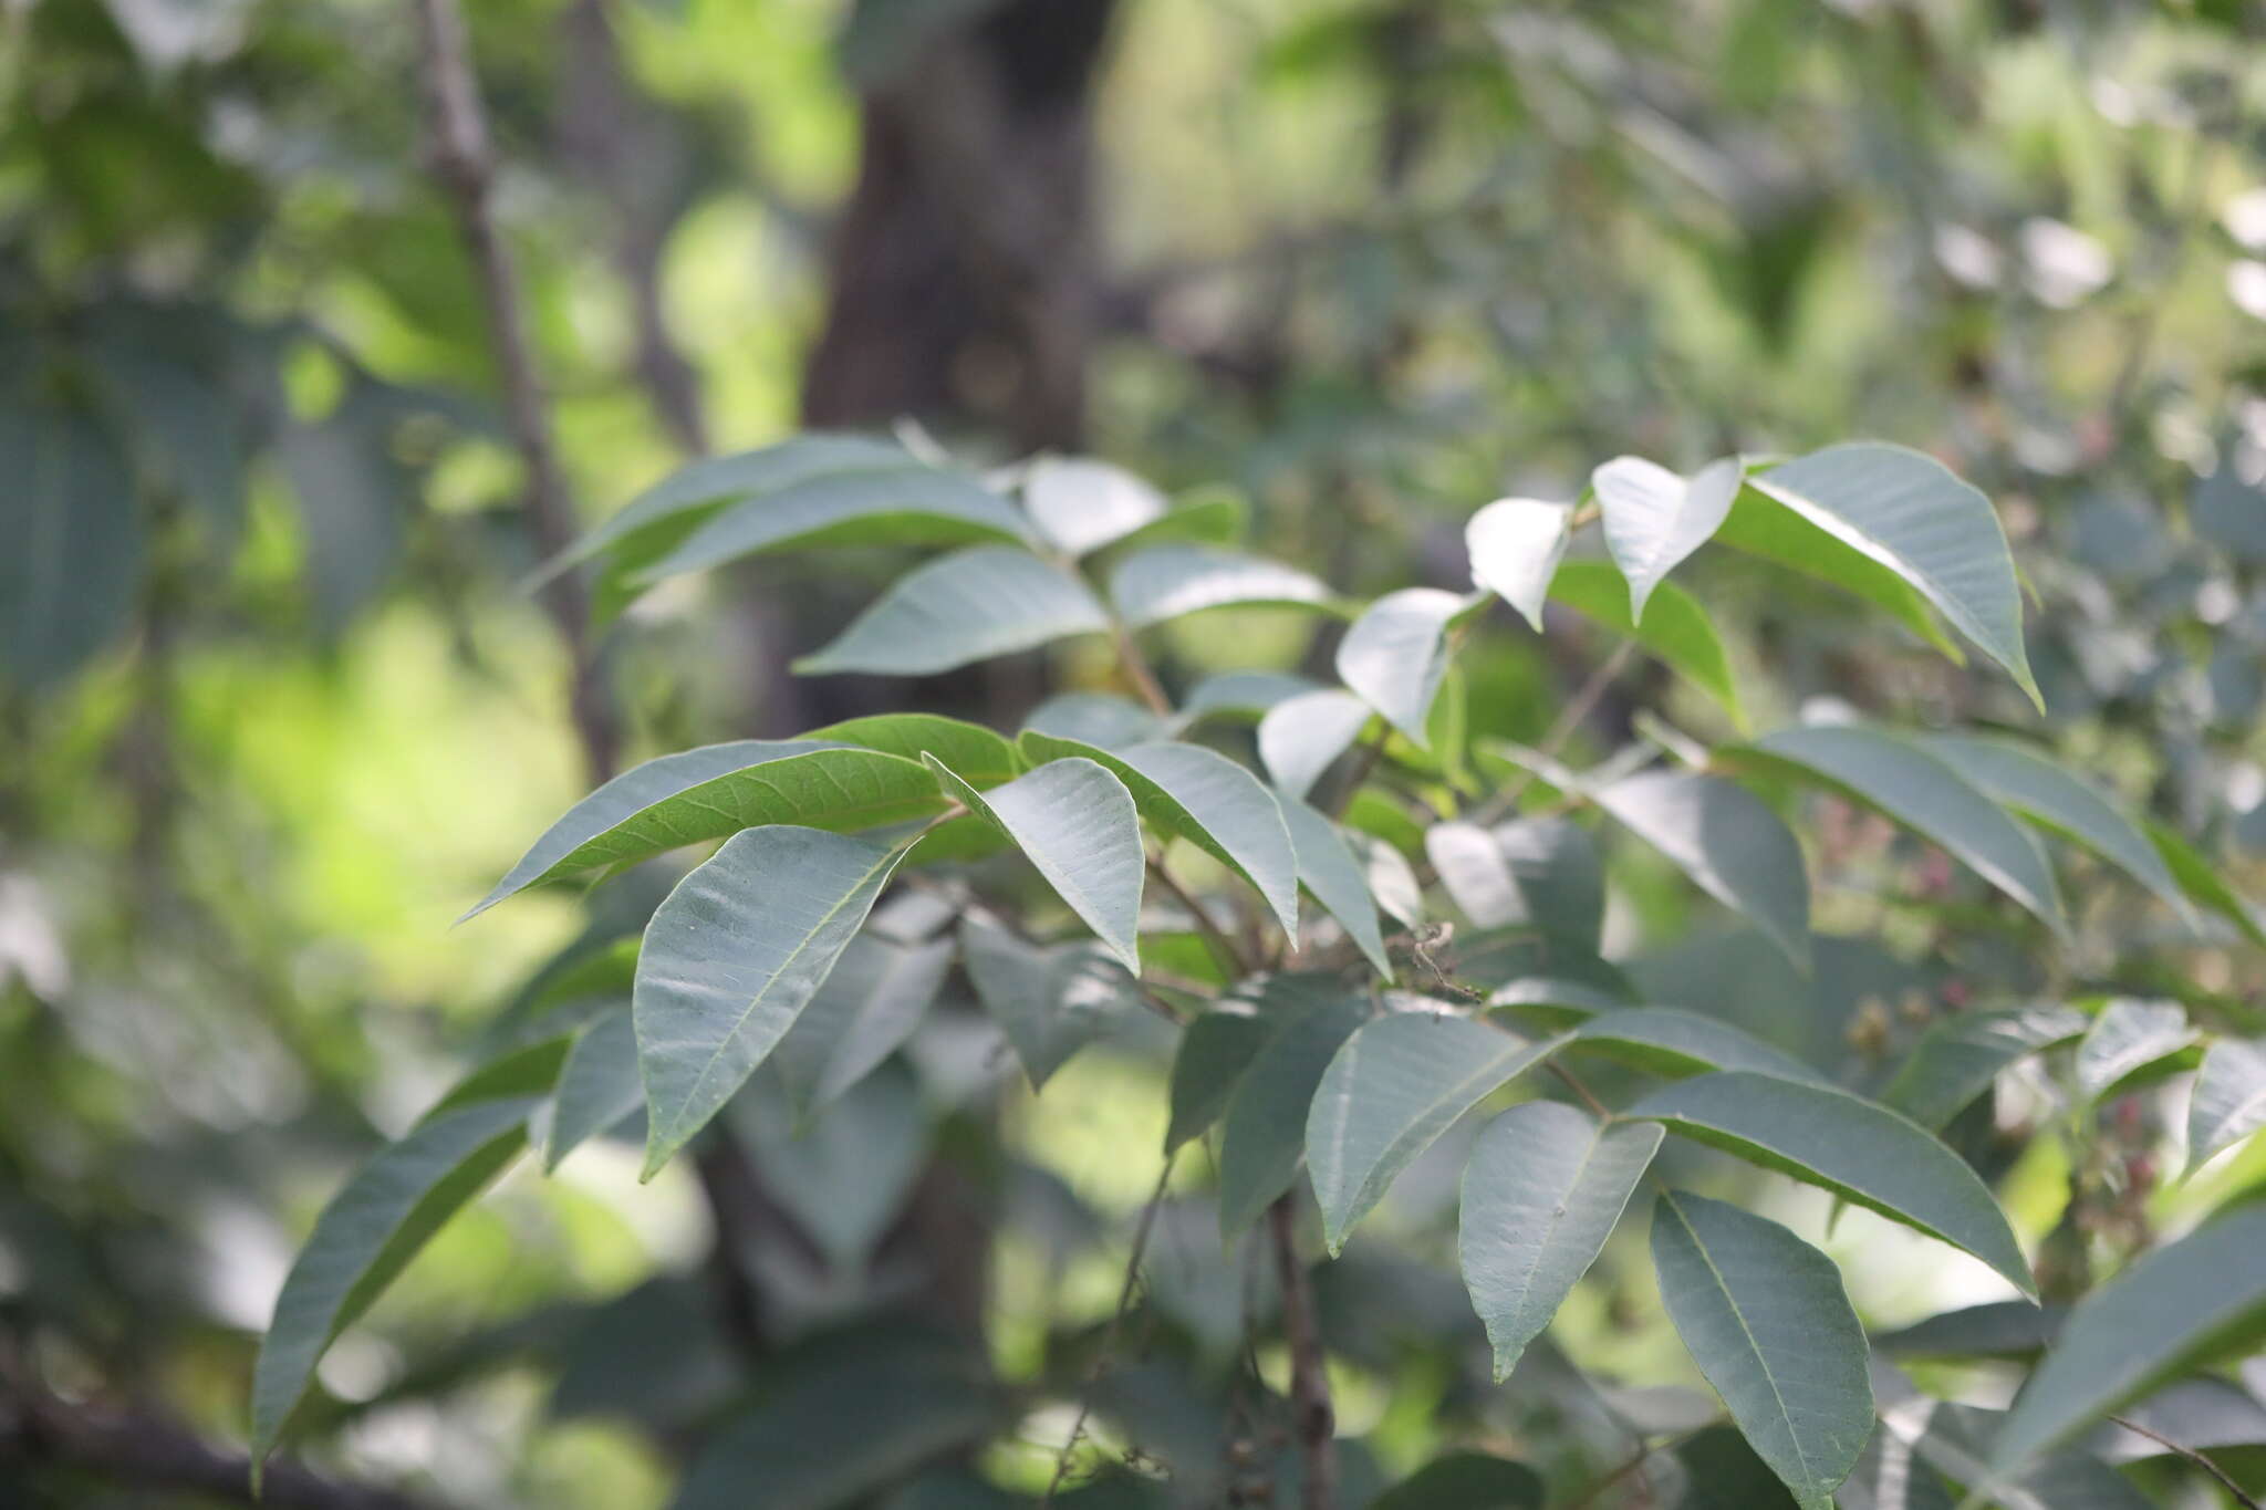
[[[59,1399],[11,1379],[0,1388],[0,1465],[86,1474],[161,1494],[195,1494],[265,1510],[440,1510],[435,1501],[378,1485],[326,1478],[297,1462],[270,1462],[252,1496],[252,1458],[211,1447],[186,1426],[138,1410]]]

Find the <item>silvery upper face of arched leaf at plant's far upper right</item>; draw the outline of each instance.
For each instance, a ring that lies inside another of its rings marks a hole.
[[[1879,441],[1826,446],[1754,487],[1910,582],[2044,711],[2021,643],[2021,586],[1990,498],[1942,462]],[[1833,564],[1813,557],[1813,570]]]

